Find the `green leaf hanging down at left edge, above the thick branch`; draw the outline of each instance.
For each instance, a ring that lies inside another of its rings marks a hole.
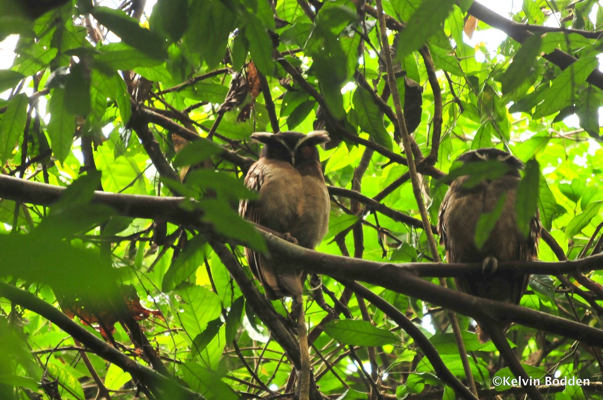
[[[17,140],[23,134],[29,101],[25,93],[13,96],[4,114],[0,114],[0,164],[12,157]]]

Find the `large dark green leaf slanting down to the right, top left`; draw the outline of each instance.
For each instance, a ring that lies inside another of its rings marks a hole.
[[[141,28],[137,20],[127,16],[122,10],[109,7],[94,7],[92,15],[119,36],[122,42],[139,49],[145,54],[163,60],[168,54],[165,51],[165,41],[156,33]]]

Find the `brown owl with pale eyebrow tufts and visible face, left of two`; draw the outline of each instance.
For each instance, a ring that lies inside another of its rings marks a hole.
[[[288,234],[298,245],[314,249],[329,228],[330,201],[316,145],[329,141],[326,131],[277,134],[254,133],[264,143],[245,185],[256,192],[256,201],[243,200],[239,214],[271,230]],[[279,266],[279,260],[245,249],[247,262],[264,285],[268,299],[301,294],[300,270]]]

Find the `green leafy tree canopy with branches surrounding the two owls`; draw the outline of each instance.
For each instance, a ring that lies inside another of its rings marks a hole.
[[[0,40],[18,35],[0,70],[0,398],[295,398],[291,301],[265,298],[243,246],[309,274],[311,399],[601,396],[598,2],[0,10]],[[315,251],[237,213],[251,133],[288,130],[331,138]],[[538,209],[545,229],[541,261],[499,263],[532,274],[519,306],[456,292],[482,266],[443,263],[435,230],[456,158],[488,147],[526,164],[517,220]]]

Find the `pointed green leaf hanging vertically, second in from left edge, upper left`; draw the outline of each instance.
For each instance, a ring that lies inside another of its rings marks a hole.
[[[51,90],[48,110],[50,111],[48,136],[52,153],[58,161],[63,162],[71,151],[75,134],[75,115],[65,107],[65,89],[57,87]]]

